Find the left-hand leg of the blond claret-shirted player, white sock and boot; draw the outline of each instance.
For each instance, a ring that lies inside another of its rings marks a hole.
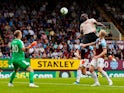
[[[91,75],[92,75],[92,78],[94,79],[95,83],[91,86],[100,86],[100,83],[99,83],[99,80],[98,80],[98,77],[97,77],[97,74],[96,72],[94,71],[96,68],[96,59],[93,59],[91,61],[91,66],[89,68],[90,72],[91,72]]]

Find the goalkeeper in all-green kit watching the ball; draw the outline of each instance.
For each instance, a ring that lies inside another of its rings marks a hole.
[[[8,83],[9,87],[13,87],[13,80],[15,78],[16,73],[18,72],[19,68],[24,69],[29,72],[29,87],[39,87],[34,84],[34,71],[31,68],[29,62],[25,61],[25,53],[27,49],[35,46],[37,43],[34,41],[31,45],[28,47],[24,47],[24,43],[21,40],[22,33],[20,30],[16,30],[14,32],[15,39],[11,42],[11,48],[12,48],[12,59],[11,63],[14,65],[14,71],[12,72],[10,76],[10,82]]]

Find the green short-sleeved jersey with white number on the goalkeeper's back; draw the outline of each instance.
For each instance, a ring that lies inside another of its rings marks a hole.
[[[12,47],[12,59],[14,60],[20,60],[25,59],[25,53],[22,50],[24,47],[24,43],[20,39],[14,39],[11,42]]]

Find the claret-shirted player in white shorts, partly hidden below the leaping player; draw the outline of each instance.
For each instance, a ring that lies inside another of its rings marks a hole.
[[[81,59],[81,53],[79,50],[75,52],[75,56],[80,59],[80,64],[77,70],[77,78],[76,81],[73,84],[79,84],[81,75],[88,75],[91,76],[91,73],[87,71],[87,68],[89,68],[89,60],[93,57],[94,51],[93,51],[93,46],[89,46],[88,49],[85,49],[85,55],[84,59]]]

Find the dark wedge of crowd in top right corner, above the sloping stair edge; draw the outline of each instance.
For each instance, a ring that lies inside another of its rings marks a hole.
[[[111,13],[111,16],[124,29],[124,1],[123,0],[103,0],[100,4],[104,4],[106,12]]]

